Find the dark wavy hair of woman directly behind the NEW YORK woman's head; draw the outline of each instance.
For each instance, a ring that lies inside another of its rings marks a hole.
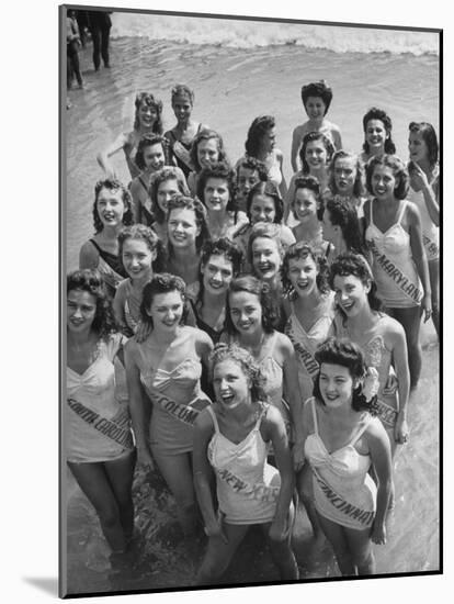
[[[273,301],[270,287],[257,277],[249,273],[241,273],[230,281],[227,293],[226,303],[226,320],[224,322],[224,328],[230,335],[238,334],[238,329],[235,327],[230,316],[230,295],[237,292],[248,292],[257,295],[262,306],[262,327],[268,334],[274,331],[273,325],[279,322],[280,310]]]

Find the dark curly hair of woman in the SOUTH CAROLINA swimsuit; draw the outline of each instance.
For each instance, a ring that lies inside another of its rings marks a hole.
[[[111,334],[117,332],[117,327],[112,311],[111,299],[106,292],[101,273],[97,269],[89,268],[69,272],[66,278],[66,294],[68,295],[73,290],[87,291],[94,297],[97,310],[91,328],[101,339],[106,342]]]

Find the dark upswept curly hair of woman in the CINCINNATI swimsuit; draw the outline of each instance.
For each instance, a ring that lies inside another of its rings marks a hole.
[[[330,337],[320,344],[316,350],[315,359],[321,367],[326,365],[340,365],[349,370],[353,380],[363,380],[367,366],[360,346],[347,338]],[[314,396],[325,406],[326,403],[320,392],[320,371],[314,382]],[[371,415],[377,415],[377,395],[366,401],[362,393],[362,383],[359,383],[352,391],[352,409],[354,411],[368,411]]]

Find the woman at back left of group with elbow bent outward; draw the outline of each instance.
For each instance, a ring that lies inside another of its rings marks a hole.
[[[162,102],[150,92],[140,92],[134,101],[135,116],[130,132],[120,134],[115,141],[97,156],[98,164],[107,178],[116,178],[116,172],[110,158],[123,150],[132,178],[140,174],[140,168],[135,163],[138,144],[144,134],[162,134]]]

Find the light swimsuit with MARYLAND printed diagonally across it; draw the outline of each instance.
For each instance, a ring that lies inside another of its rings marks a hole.
[[[422,288],[413,262],[410,235],[401,225],[407,201],[401,201],[395,224],[385,233],[374,224],[374,201],[371,201],[371,224],[365,238],[373,254],[372,270],[378,295],[388,309],[418,306]]]

